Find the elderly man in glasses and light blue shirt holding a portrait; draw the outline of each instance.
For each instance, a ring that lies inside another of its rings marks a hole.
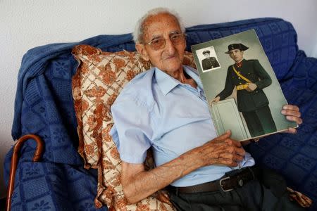
[[[282,186],[274,187],[276,193],[270,190],[276,183],[261,184],[254,159],[230,131],[216,136],[197,71],[182,66],[186,43],[177,15],[149,11],[134,36],[137,51],[154,68],[132,79],[111,107],[127,200],[137,203],[168,186],[178,210],[300,209],[287,199],[279,177],[272,180]],[[302,123],[297,106],[284,106],[282,113]],[[150,147],[156,167],[147,171]]]

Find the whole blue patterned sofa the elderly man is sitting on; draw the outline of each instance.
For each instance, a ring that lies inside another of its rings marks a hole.
[[[297,33],[280,18],[258,18],[187,28],[187,51],[192,44],[255,29],[289,103],[301,108],[304,123],[298,133],[275,134],[248,151],[256,162],[278,170],[287,185],[317,199],[317,59],[298,49]],[[11,210],[97,210],[96,170],[85,170],[77,153],[71,79],[77,62],[73,46],[89,44],[103,51],[135,51],[131,34],[100,35],[75,43],[30,49],[18,74],[12,136],[37,134],[45,144],[42,161],[32,162],[35,142],[20,151]],[[12,149],[6,155],[4,177]],[[107,210],[106,206],[100,210]],[[316,203],[311,210],[317,210]]]

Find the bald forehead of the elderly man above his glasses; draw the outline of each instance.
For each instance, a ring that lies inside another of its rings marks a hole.
[[[159,13],[149,16],[142,25],[144,38],[161,37],[164,33],[181,32],[178,19],[169,13]]]

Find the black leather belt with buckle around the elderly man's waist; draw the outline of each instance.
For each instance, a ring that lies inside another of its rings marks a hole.
[[[235,188],[242,187],[248,181],[255,179],[257,171],[254,168],[246,167],[242,170],[233,170],[228,172],[224,177],[216,180],[209,181],[203,184],[187,187],[174,187],[168,186],[168,191],[174,193],[201,193],[201,192],[213,192],[213,191],[232,191]]]

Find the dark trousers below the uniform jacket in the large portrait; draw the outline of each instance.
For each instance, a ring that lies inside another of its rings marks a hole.
[[[250,112],[242,112],[252,137],[276,132],[271,110],[268,106]]]

